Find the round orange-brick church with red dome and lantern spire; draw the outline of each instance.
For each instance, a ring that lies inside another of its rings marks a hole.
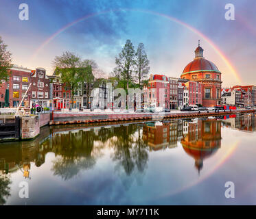
[[[205,59],[203,51],[198,40],[196,57],[185,66],[181,78],[202,83],[202,105],[213,107],[221,103],[221,73],[213,62]]]

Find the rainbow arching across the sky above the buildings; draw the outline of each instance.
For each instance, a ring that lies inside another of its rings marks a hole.
[[[119,9],[116,9],[116,10],[108,10],[108,11],[104,11],[104,12],[97,12],[97,13],[94,13],[94,14],[89,14],[89,15],[83,16],[82,18],[79,18],[78,20],[75,20],[75,21],[65,25],[64,27],[62,27],[61,29],[56,31],[53,35],[51,35],[49,38],[47,38],[47,40],[45,40],[45,42],[43,42],[43,44],[41,44],[40,47],[38,47],[38,49],[36,49],[36,51],[33,53],[32,57],[30,58],[30,61],[32,61],[34,59],[34,57],[36,57],[36,55],[39,53],[39,51],[41,49],[43,49],[49,42],[51,42],[51,40],[56,38],[56,36],[61,34],[66,29],[69,29],[69,27],[72,27],[73,25],[75,25],[77,23],[80,23],[81,21],[84,21],[88,18],[92,18],[92,17],[95,17],[95,16],[100,16],[102,14],[108,14],[110,12],[117,12],[117,11],[119,11],[119,12],[132,11],[132,12],[142,12],[142,13],[147,13],[147,14],[153,14],[153,15],[156,15],[156,16],[161,16],[163,18],[167,18],[170,21],[173,21],[175,23],[178,23],[179,25],[182,25],[183,27],[186,27],[187,29],[193,31],[195,34],[200,36],[200,38],[203,38],[206,42],[208,42],[208,44],[213,48],[213,50],[216,51],[216,53],[218,53],[218,55],[220,55],[220,57],[222,58],[222,60],[226,64],[226,66],[229,67],[229,69],[231,70],[231,73],[233,73],[233,75],[235,75],[235,79],[237,79],[237,82],[241,81],[240,76],[237,74],[235,68],[232,66],[231,62],[229,62],[228,58],[224,55],[224,53],[222,51],[220,51],[220,49],[218,49],[216,44],[214,44],[209,38],[207,38],[207,36],[202,34],[200,31],[198,31],[194,27],[191,27],[190,25],[187,25],[187,23],[184,23],[183,21],[179,21],[177,18],[174,18],[172,16],[168,16],[166,14],[160,14],[160,13],[157,13],[157,12],[152,12],[150,10],[137,10],[137,9],[135,10],[135,9],[128,9],[128,8],[119,8]]]

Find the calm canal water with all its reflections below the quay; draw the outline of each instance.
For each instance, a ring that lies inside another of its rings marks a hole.
[[[256,114],[43,127],[0,144],[0,204],[255,205],[255,131]]]

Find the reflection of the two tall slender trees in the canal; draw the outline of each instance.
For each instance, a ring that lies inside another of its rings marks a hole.
[[[121,126],[115,130],[115,135],[117,138],[110,140],[114,149],[113,160],[117,162],[116,170],[124,186],[129,188],[133,179],[139,180],[139,173],[143,173],[146,168],[147,145],[141,140],[141,129],[138,129],[137,124]]]

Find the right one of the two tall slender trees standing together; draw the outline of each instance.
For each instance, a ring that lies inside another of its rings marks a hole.
[[[141,88],[141,82],[147,79],[148,73],[150,71],[150,61],[148,60],[146,51],[144,49],[144,44],[141,42],[139,43],[137,52],[136,52],[136,59],[135,59],[135,73],[136,78],[139,81],[139,87]]]

